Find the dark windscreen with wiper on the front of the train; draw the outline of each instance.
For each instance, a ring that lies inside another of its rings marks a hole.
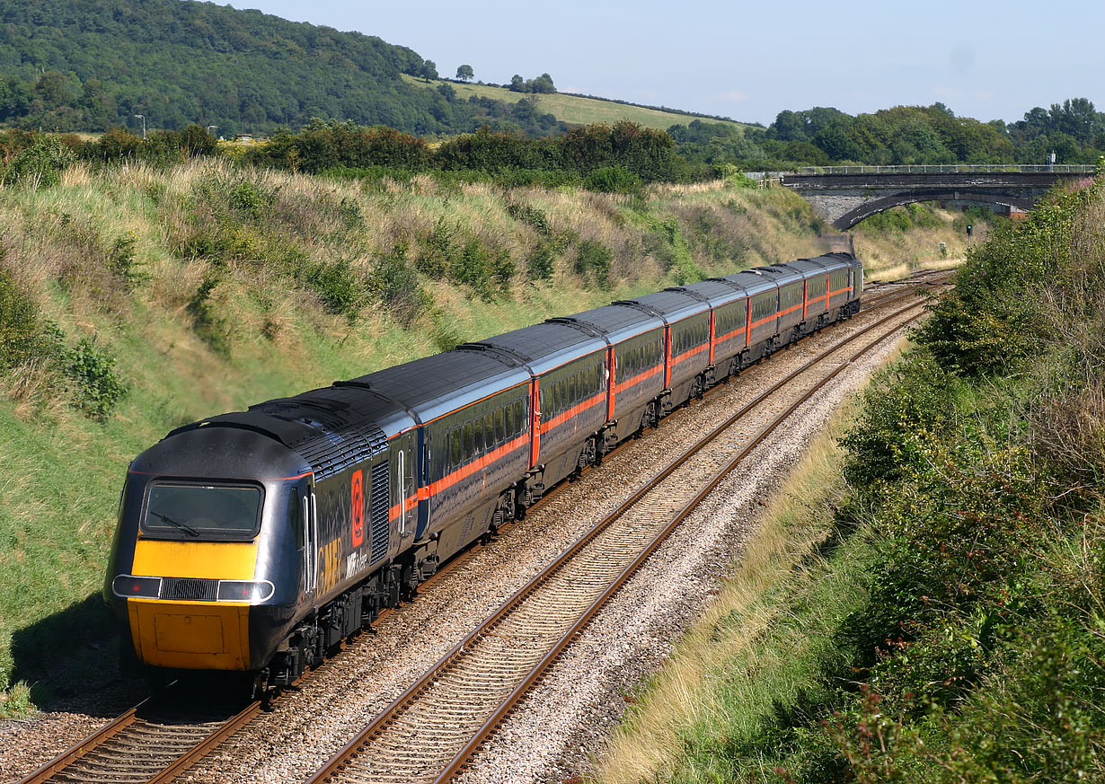
[[[173,539],[248,539],[257,528],[261,488],[156,484],[143,529]]]

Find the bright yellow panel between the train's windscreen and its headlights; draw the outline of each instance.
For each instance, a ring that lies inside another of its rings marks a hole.
[[[256,542],[177,542],[139,537],[131,574],[252,580]]]

